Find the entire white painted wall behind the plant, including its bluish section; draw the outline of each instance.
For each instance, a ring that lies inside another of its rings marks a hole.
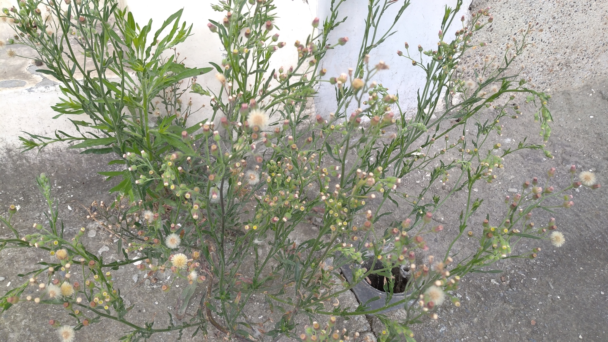
[[[464,10],[461,12],[466,12],[470,1],[465,0]],[[10,7],[16,2],[17,0],[0,0],[0,7]],[[152,18],[156,26],[159,26],[171,13],[184,8],[182,20],[193,24],[193,35],[179,46],[178,51],[181,52],[182,57],[187,57],[187,65],[205,67],[209,66],[208,61],[215,61],[218,64],[221,61],[223,51],[219,41],[216,35],[207,29],[208,19],[221,21],[224,16],[224,13],[214,12],[211,9],[210,5],[214,4],[215,0],[121,0],[121,2],[128,5],[134,13],[136,21],[147,23],[148,19]],[[424,79],[420,71],[413,68],[409,61],[398,58],[396,50],[404,50],[404,41],[414,47],[414,51],[418,44],[424,47],[437,44],[437,32],[443,16],[443,7],[446,4],[453,6],[455,2],[456,0],[412,0],[412,4],[396,27],[399,32],[371,54],[372,62],[384,60],[390,66],[388,71],[379,75],[377,81],[399,94],[403,108],[415,105],[416,90],[423,84]],[[280,17],[276,21],[276,25],[281,29],[279,40],[285,41],[287,46],[280,49],[275,55],[277,60],[274,66],[288,68],[295,63],[297,57],[293,42],[306,39],[311,30],[311,21],[315,16],[325,18],[328,14],[330,0],[275,0],[275,4],[278,7],[277,12],[280,13]],[[347,0],[342,5],[340,18],[348,16],[348,19],[333,33],[332,39],[349,37],[350,41],[345,46],[340,46],[326,55],[325,61],[323,61],[323,67],[328,70],[326,77],[337,76],[340,72],[346,72],[349,67],[354,66],[360,47],[358,41],[361,40],[363,33],[366,6],[367,0]],[[394,5],[395,8],[397,6],[398,4]],[[460,24],[460,21],[455,24]],[[449,32],[455,30],[456,27]],[[0,38],[11,37],[11,32],[6,24],[0,23]],[[4,52],[0,54],[0,81],[26,81],[26,84],[21,87],[0,88],[0,96],[5,99],[0,111],[0,120],[8,128],[0,131],[0,147],[18,145],[18,136],[22,135],[19,132],[21,130],[47,136],[52,134],[55,129],[74,132],[73,126],[67,118],[51,119],[55,113],[50,106],[55,104],[60,92],[49,87],[36,87],[36,84],[43,78],[27,71],[29,66],[28,60],[9,59],[5,57]],[[199,82],[216,83],[214,75],[215,72],[209,72],[199,77]],[[320,114],[328,114],[333,111],[334,91],[327,87],[327,84],[321,86],[319,97],[315,101],[317,113]],[[209,101],[204,97],[193,95],[195,104],[202,105]],[[200,115],[205,114],[208,113],[202,111]],[[198,117],[193,119],[198,119]]]

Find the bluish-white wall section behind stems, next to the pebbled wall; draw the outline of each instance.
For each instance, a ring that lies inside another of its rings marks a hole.
[[[448,30],[447,38],[454,37],[451,35],[461,28],[460,17],[468,14],[471,1],[464,1],[452,28]],[[339,18],[348,16],[348,19],[334,30],[331,35],[334,38],[332,41],[339,37],[348,37],[349,41],[345,46],[334,49],[326,55],[323,68],[327,69],[328,75],[337,76],[356,65],[359,49],[361,48],[359,42],[364,37],[363,27],[367,16],[367,2],[368,0],[349,0],[345,3],[344,8],[340,7]],[[410,46],[410,55],[412,56],[420,54],[417,48],[418,44],[426,50],[430,48],[436,50],[444,7],[448,5],[454,8],[456,2],[456,0],[412,0],[395,26],[395,30],[398,32],[376,47],[370,54],[371,65],[375,65],[380,60],[389,65],[390,69],[382,71],[375,80],[389,88],[390,93],[399,95],[399,105],[403,110],[416,108],[416,91],[424,86],[424,74],[420,68],[412,66],[410,60],[399,57],[396,52],[401,50],[405,53],[404,43],[406,41]],[[394,4],[390,8],[396,12],[401,4],[402,1],[398,1],[398,4]],[[329,9],[330,1],[321,1],[319,18],[325,18]],[[393,18],[395,18],[395,13],[386,13],[384,18],[384,27],[381,27],[379,32],[385,32],[390,27]],[[320,94],[325,95],[316,99],[317,113],[325,116],[334,111],[336,101],[333,88],[334,86],[329,83],[323,83],[320,86]],[[354,109],[356,108],[351,108],[351,110]]]

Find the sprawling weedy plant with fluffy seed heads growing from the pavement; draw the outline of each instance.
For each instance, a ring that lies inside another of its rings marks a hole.
[[[123,176],[112,189],[119,192],[117,199],[92,203],[88,218],[119,238],[124,260],[105,263],[86,250],[80,241],[84,228],[73,238],[64,237],[44,174],[37,180],[49,204],[48,226],[35,223],[38,232],[20,235],[12,223],[13,206],[1,220],[15,237],[0,240],[2,248],[35,247],[52,256],[20,275],[30,279],[2,297],[2,310],[23,296],[36,305],[63,305],[75,327],[51,323],[64,341],[102,318],[125,324],[126,341],[171,330],[181,334],[187,328],[193,336],[216,329],[240,341],[280,335],[304,341],[361,340],[359,332],[340,330],[337,323],[337,318],[358,315],[381,319],[386,329],[379,340],[414,341],[410,326],[424,316],[437,319],[446,298],[460,306],[455,291],[465,274],[494,272],[488,267],[498,260],[536,257],[541,248],[516,249],[522,239],[564,243],[554,218],[542,225],[531,222],[535,209],[570,208],[568,190],[599,187],[589,172],[575,181],[572,167],[571,185],[554,189],[550,181],[556,169],[550,169],[544,183],[533,178],[521,194],[506,197],[502,220],[490,222],[488,215],[482,228],[471,229],[483,201],[473,195],[477,181],[492,183],[503,159],[519,150],[539,150],[553,158],[543,144],[525,139],[517,148],[491,142],[494,133],[506,129],[506,119],[522,114],[517,99],[537,105],[534,121],[544,141],[550,136],[551,115],[549,96],[527,88],[513,73],[532,26],[506,45],[502,60],[488,59],[470,71],[461,65],[469,49],[485,45],[475,42],[475,33],[492,22],[488,9],[475,13],[470,27],[463,17],[449,40],[446,32],[460,10],[458,1],[454,9],[446,7],[436,50],[418,46],[416,53],[406,43],[406,52],[397,52],[426,75],[417,109],[406,113],[396,95],[374,82],[389,66],[372,63],[368,54],[395,33],[409,1],[369,2],[358,63],[336,77],[325,77],[320,61],[328,50],[353,43],[331,35],[346,20],[338,19],[344,1],[332,1],[330,16],[323,22],[314,19],[308,37],[295,42],[294,66],[272,71],[275,51],[286,46],[275,33],[272,1],[221,2],[213,9],[223,19],[208,27],[218,35],[226,57],[211,63],[218,82],[210,85],[190,79],[207,69],[185,68],[174,51],[169,57],[162,54],[190,32],[178,25],[181,12],[165,21],[163,28],[173,23],[165,38],[158,39],[159,30],[147,45],[151,24],[139,28],[116,1],[65,2],[21,1],[19,9],[4,9],[18,32],[9,43],[27,44],[40,54],[48,68],[44,72],[61,80],[68,97],[55,110],[87,114],[92,122],[73,122],[90,131],[81,137],[58,132],[55,139],[30,134],[24,147],[75,141],[72,147],[89,148],[84,153],[119,155],[114,163],[128,169],[101,172]],[[42,15],[43,5],[50,15]],[[393,25],[383,31],[379,23],[388,15]],[[89,60],[75,52],[75,44]],[[85,63],[94,69],[89,72]],[[329,115],[308,109],[313,97],[328,96],[316,93],[320,82],[334,85],[336,110]],[[211,97],[209,120],[187,127],[191,107],[183,110],[179,102],[185,89]],[[155,99],[161,97],[158,103],[165,108],[154,122],[150,114],[156,113]],[[349,113],[348,108],[356,110]],[[108,147],[92,148],[99,145]],[[429,178],[405,189],[402,184],[420,171]],[[426,241],[444,229],[434,225],[434,212],[461,190],[465,205],[454,222],[457,233],[443,249],[430,248]],[[302,239],[303,231],[313,233]],[[456,256],[452,247],[463,236],[474,237],[478,245],[471,246],[470,254]],[[128,318],[133,306],[126,307],[112,278],[112,270],[122,267],[137,267],[148,277],[172,276],[162,281],[162,290],[181,290],[181,304],[168,313],[168,327]],[[407,281],[399,285],[403,298],[391,301],[398,281],[395,267]],[[351,281],[340,271],[345,269],[351,271]],[[339,303],[340,295],[370,276],[385,279],[387,296],[380,309]],[[32,299],[34,284],[42,291]],[[255,296],[275,315],[268,332],[248,314]],[[188,312],[194,298],[200,305]],[[405,310],[406,319],[392,321],[381,313],[394,307]],[[322,326],[321,320],[328,323]]]

